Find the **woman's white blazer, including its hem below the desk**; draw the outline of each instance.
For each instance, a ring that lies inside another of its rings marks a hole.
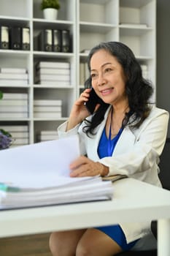
[[[90,138],[82,132],[85,121],[74,129],[66,132],[66,123],[58,127],[59,137],[78,134],[80,137],[80,152],[87,154],[95,162],[101,162],[109,167],[109,175],[125,174],[161,187],[158,178],[159,157],[166,142],[169,113],[166,110],[152,107],[150,115],[144,120],[139,129],[125,127],[115,146],[112,157],[98,157],[98,143],[105,127],[109,109],[104,121],[96,127],[96,135]],[[89,117],[91,118],[91,117]],[[134,241],[150,233],[150,222],[120,224],[127,242]]]

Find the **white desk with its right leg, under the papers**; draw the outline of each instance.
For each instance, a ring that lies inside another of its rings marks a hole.
[[[169,256],[170,192],[133,178],[113,187],[112,201],[0,211],[0,237],[158,219],[158,256]]]

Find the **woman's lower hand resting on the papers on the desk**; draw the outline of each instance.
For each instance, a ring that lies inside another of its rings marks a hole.
[[[93,162],[88,157],[80,156],[70,165],[72,170],[70,177],[85,177],[85,176],[105,176],[109,173],[109,168],[102,165],[100,162]]]

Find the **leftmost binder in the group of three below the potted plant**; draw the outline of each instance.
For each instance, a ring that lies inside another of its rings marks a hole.
[[[53,30],[45,29],[39,34],[39,50],[53,51]]]

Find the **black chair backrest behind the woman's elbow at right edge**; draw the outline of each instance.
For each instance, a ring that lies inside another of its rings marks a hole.
[[[161,172],[159,173],[159,177],[163,188],[170,190],[170,138],[166,139],[166,144],[163,148],[163,153],[161,154],[160,159],[161,162],[159,167]]]

